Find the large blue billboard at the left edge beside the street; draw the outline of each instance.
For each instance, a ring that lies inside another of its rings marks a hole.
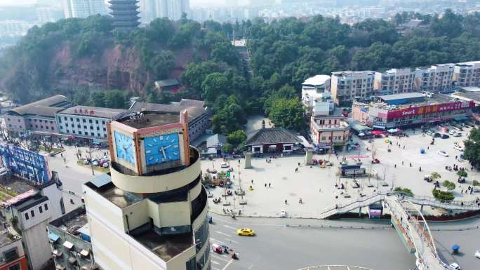
[[[13,175],[33,184],[46,184],[51,180],[46,156],[11,144],[0,144],[0,158]]]

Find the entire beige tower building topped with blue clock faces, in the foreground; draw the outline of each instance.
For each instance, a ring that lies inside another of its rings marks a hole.
[[[210,269],[207,195],[187,113],[133,113],[107,126],[111,173],[84,185],[105,270]]]

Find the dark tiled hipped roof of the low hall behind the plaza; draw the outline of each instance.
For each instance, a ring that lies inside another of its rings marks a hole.
[[[295,144],[300,142],[302,142],[302,140],[300,140],[297,135],[285,128],[261,128],[259,130],[253,130],[251,133],[247,134],[245,145]]]

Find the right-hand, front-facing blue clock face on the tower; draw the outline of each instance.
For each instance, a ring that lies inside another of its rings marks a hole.
[[[147,166],[180,160],[178,133],[147,137],[144,145]]]

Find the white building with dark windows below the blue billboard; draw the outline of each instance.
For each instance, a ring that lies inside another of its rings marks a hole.
[[[15,223],[22,235],[29,269],[38,270],[51,259],[47,224],[65,213],[61,182],[55,172],[51,182],[32,189],[4,202],[2,215]]]

